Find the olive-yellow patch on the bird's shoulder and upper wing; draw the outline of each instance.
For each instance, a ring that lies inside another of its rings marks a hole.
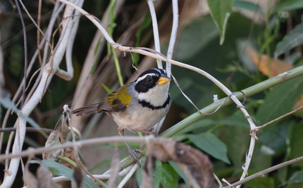
[[[112,92],[107,97],[107,102],[112,107],[116,107],[119,103],[117,103],[115,99],[119,99],[121,103],[128,107],[129,103],[132,100],[132,96],[128,94],[128,86],[130,83],[125,84],[124,86],[120,87],[116,91]]]

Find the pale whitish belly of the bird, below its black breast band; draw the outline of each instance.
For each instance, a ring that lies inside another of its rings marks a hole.
[[[117,125],[123,129],[148,131],[164,118],[168,109],[169,107],[158,110],[149,108],[141,108],[140,110],[127,109],[123,112],[114,112],[111,115]]]

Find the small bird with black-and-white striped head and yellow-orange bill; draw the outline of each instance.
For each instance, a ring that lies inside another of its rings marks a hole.
[[[120,136],[124,135],[124,129],[158,136],[151,128],[164,118],[171,106],[167,84],[170,80],[163,69],[145,70],[134,82],[118,88],[100,103],[75,109],[72,114],[79,116],[105,112],[117,123]],[[127,142],[125,144],[139,163],[136,152],[142,151],[132,149]]]

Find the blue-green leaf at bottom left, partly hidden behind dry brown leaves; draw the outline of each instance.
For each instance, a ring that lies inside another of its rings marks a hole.
[[[53,174],[57,176],[65,176],[68,179],[72,180],[74,179],[74,170],[59,164],[51,159],[46,159],[46,160],[30,160],[29,163],[43,163],[45,166],[48,167],[48,170],[50,170]],[[83,174],[84,177],[84,187],[86,188],[98,188],[99,186],[97,183],[93,182],[90,180],[85,174]]]

